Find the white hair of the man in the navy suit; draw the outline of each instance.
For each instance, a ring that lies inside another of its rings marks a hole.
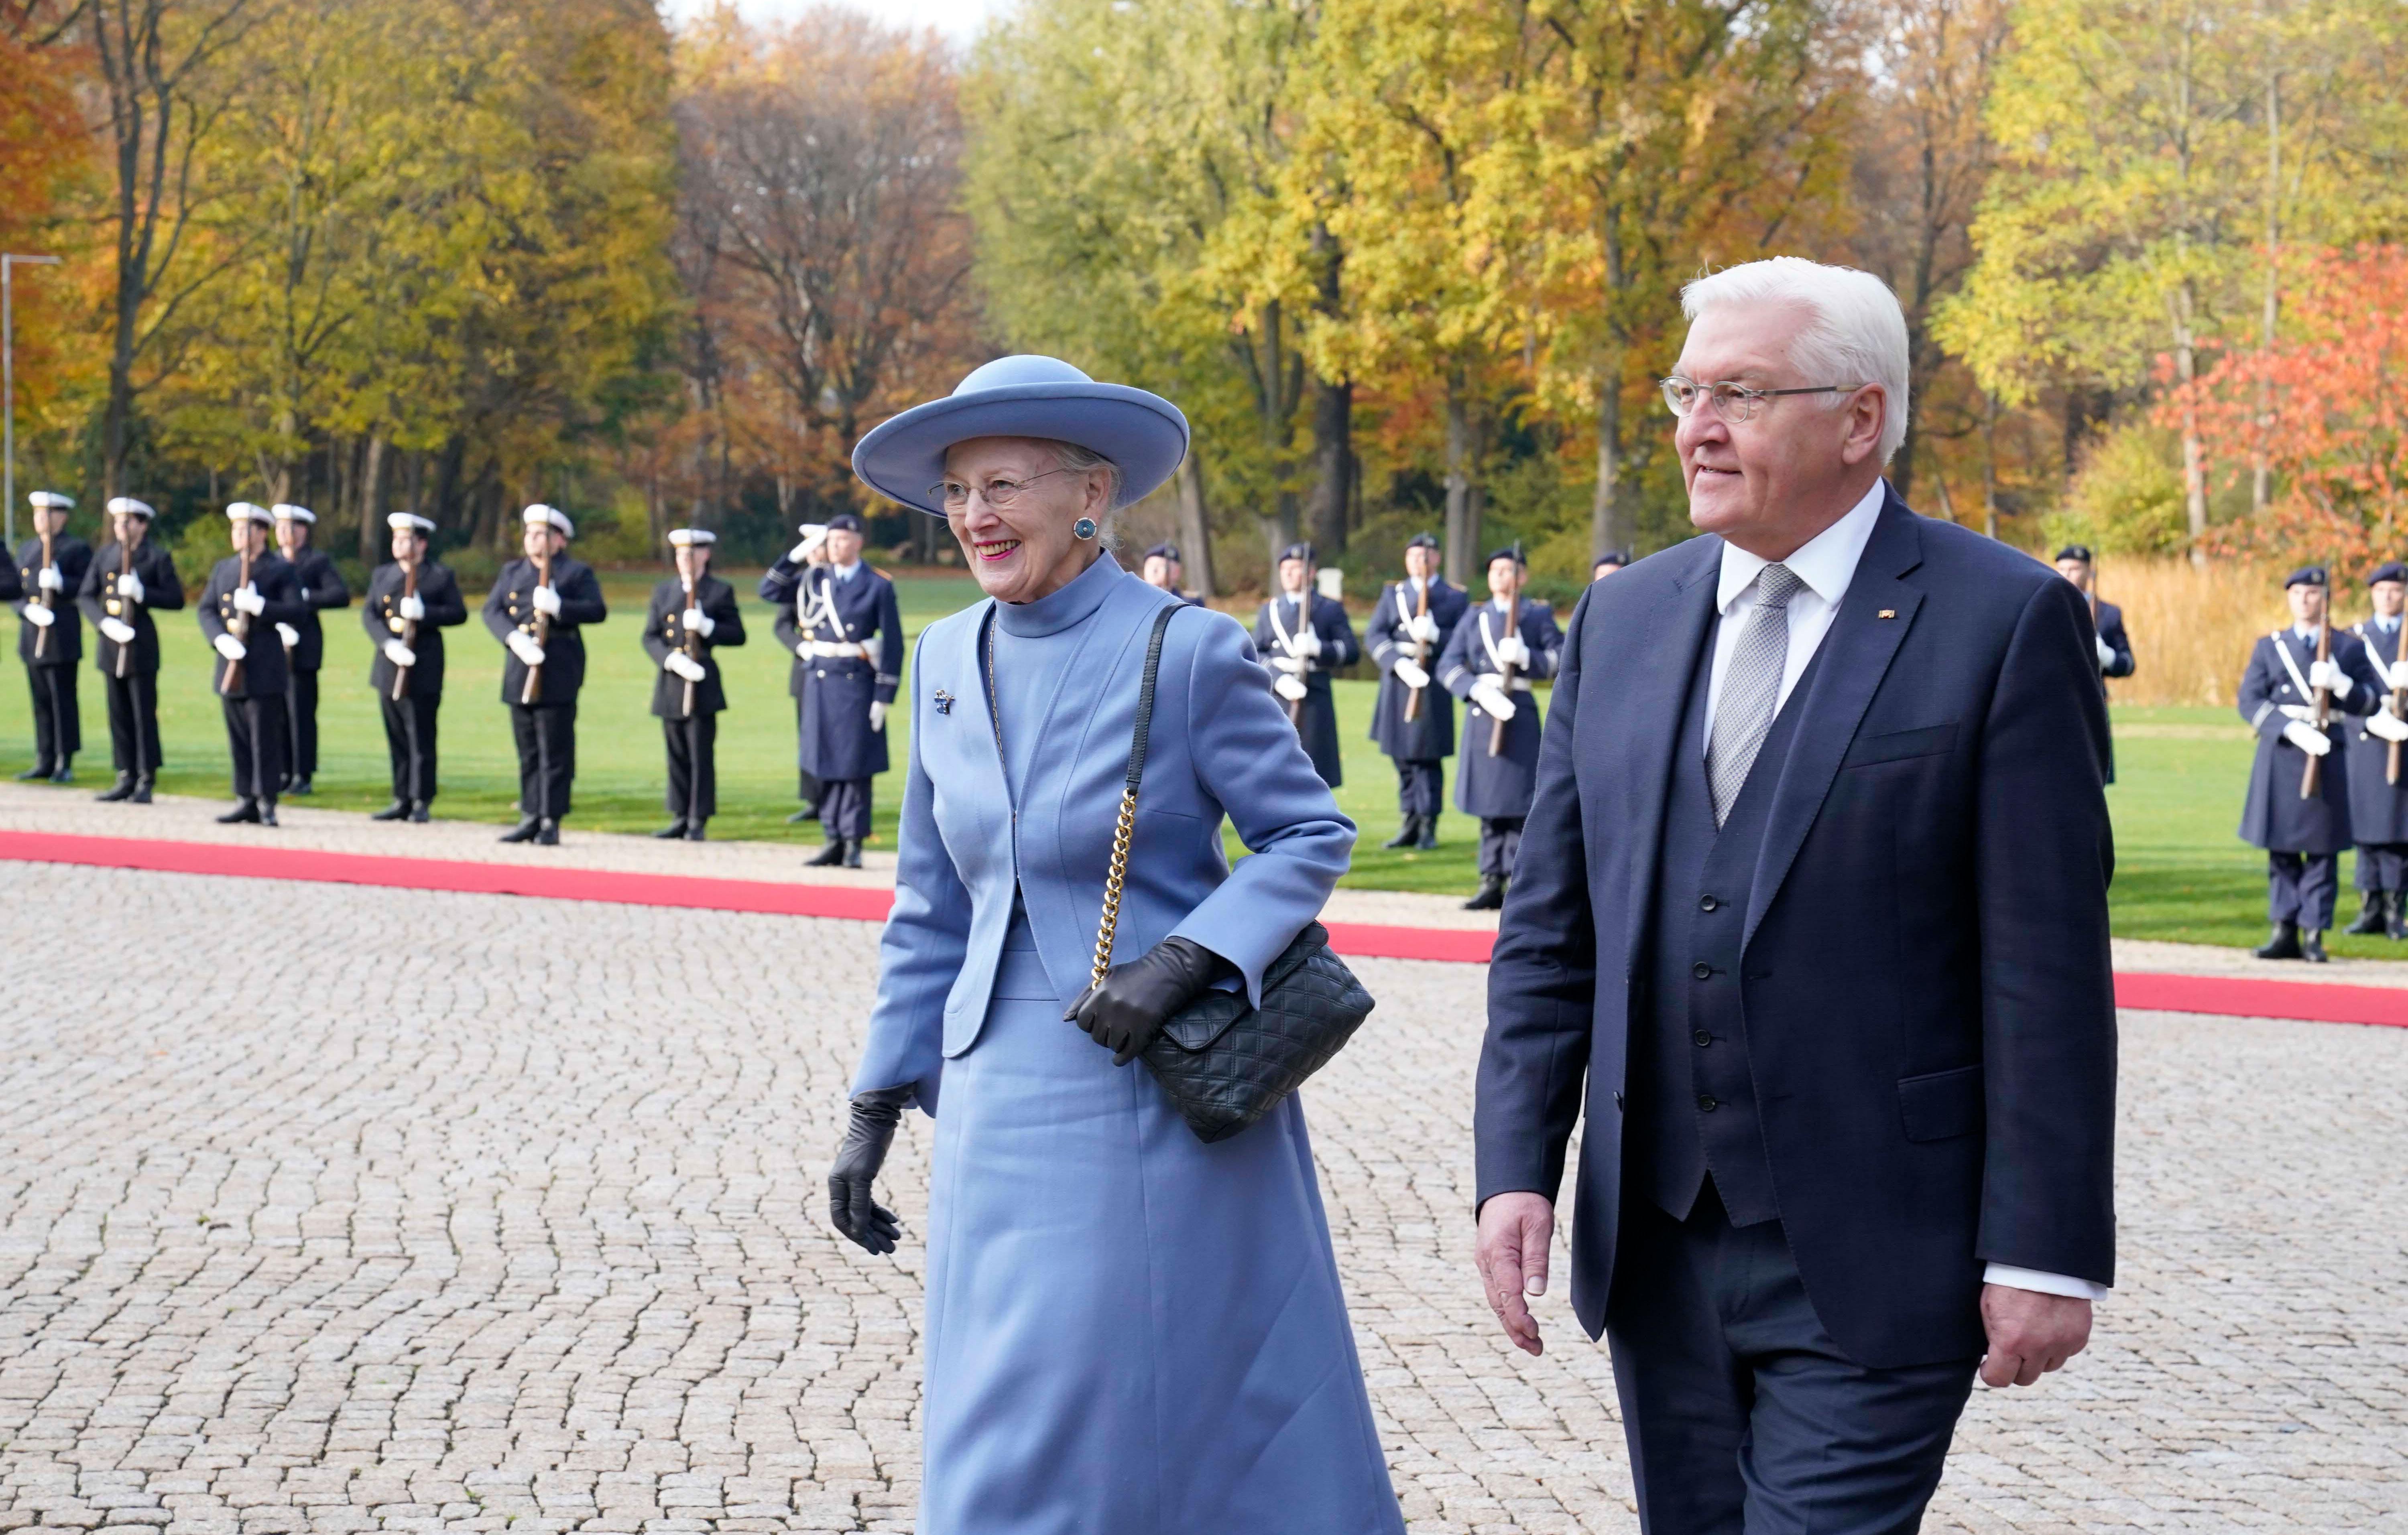
[[[1813,320],[1789,346],[1804,385],[1869,385],[1885,395],[1881,411],[1881,462],[1907,440],[1907,313],[1898,294],[1871,272],[1825,267],[1804,255],[1707,272],[1681,289],[1681,313],[1698,320],[1727,303],[1794,303]],[[1712,383],[1712,380],[1702,380]],[[1837,407],[1847,395],[1825,395]]]

